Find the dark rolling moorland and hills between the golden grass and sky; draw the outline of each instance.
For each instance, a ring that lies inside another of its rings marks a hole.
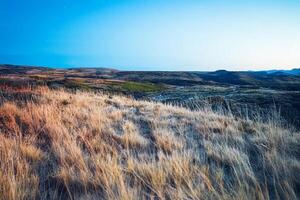
[[[107,68],[52,69],[0,65],[2,84],[47,85],[121,93],[198,109],[211,103],[235,115],[277,110],[300,127],[300,70],[260,72],[142,72]]]

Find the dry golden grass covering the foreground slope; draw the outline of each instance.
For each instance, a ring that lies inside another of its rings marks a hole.
[[[0,102],[1,200],[300,198],[300,134],[278,119],[20,92]]]

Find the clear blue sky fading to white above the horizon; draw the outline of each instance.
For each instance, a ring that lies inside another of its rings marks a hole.
[[[0,63],[300,67],[300,0],[0,0]]]

